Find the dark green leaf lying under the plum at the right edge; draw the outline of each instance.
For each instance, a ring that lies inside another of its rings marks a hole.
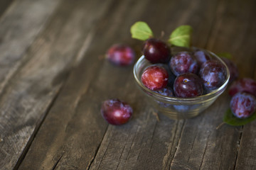
[[[226,113],[223,117],[223,121],[225,123],[227,123],[228,125],[233,125],[233,126],[245,125],[255,119],[256,119],[256,113],[251,115],[249,118],[237,118],[237,117],[235,117],[235,115],[233,115],[230,108],[228,109],[228,111],[226,111]]]

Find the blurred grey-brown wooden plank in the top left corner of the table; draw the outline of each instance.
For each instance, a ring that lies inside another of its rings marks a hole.
[[[58,2],[17,0],[0,18],[0,91],[26,60],[24,52],[43,29]]]

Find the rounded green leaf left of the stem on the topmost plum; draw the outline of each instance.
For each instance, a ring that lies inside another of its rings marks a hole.
[[[138,39],[138,40],[147,40],[149,38],[152,38],[153,32],[147,25],[147,23],[138,21],[134,23],[131,27],[131,33],[132,38]]]

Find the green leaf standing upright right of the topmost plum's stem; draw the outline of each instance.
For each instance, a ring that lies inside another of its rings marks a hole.
[[[179,26],[171,33],[168,42],[178,47],[190,47],[192,32],[191,26]]]

